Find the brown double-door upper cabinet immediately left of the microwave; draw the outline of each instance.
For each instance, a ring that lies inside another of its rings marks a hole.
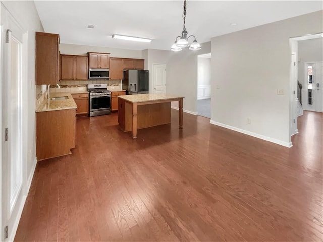
[[[61,80],[87,80],[88,57],[61,55]]]

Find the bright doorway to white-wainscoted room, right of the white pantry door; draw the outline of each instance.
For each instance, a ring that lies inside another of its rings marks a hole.
[[[197,56],[197,115],[211,118],[211,53]]]

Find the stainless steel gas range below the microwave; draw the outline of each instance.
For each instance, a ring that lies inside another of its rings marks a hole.
[[[90,117],[111,113],[111,92],[107,84],[88,84],[90,93]]]

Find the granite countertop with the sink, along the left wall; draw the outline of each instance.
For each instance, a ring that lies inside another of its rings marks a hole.
[[[79,93],[79,92],[78,92]],[[36,109],[36,112],[47,112],[47,111],[57,111],[64,109],[74,109],[77,105],[70,92],[53,92],[50,93],[50,98],[52,97],[64,97],[67,96],[68,99],[63,100],[50,100],[47,99]]]

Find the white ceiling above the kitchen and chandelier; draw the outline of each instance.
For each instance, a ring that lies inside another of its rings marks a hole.
[[[183,30],[183,1],[35,1],[35,5],[45,32],[60,34],[61,43],[169,50]],[[186,30],[204,43],[215,36],[322,9],[322,1],[188,0]],[[95,28],[88,29],[88,24]],[[113,34],[153,40],[112,39]]]

